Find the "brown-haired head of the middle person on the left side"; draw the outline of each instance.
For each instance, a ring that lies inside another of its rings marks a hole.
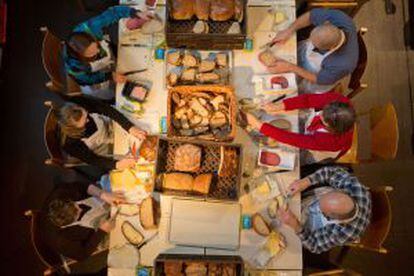
[[[88,122],[88,112],[76,104],[66,103],[57,110],[57,120],[64,134],[72,138],[80,138]]]

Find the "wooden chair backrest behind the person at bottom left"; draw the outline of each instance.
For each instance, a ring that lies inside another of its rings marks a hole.
[[[29,210],[25,212],[25,216],[30,218],[30,239],[35,250],[36,255],[40,261],[47,267],[45,275],[47,275],[54,267],[62,265],[62,259],[59,253],[52,250],[43,238],[43,233],[40,229],[42,225],[42,216],[39,211]]]

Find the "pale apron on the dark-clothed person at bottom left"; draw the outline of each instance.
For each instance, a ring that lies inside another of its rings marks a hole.
[[[91,207],[83,217],[69,225],[65,225],[62,228],[70,226],[82,226],[87,228],[92,228],[94,230],[99,228],[99,224],[103,218],[106,218],[109,215],[110,208],[108,205],[95,197],[89,197],[84,200],[77,201],[76,204],[84,204]]]

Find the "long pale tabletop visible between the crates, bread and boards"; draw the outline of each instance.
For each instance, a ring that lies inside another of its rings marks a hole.
[[[233,51],[233,86],[236,89],[237,98],[251,97],[254,94],[254,87],[251,83],[251,78],[255,74],[265,73],[265,68],[258,62],[257,54],[260,51],[259,47],[263,45],[269,36],[275,34],[275,30],[269,30],[270,20],[263,16],[269,8],[268,3],[271,1],[256,1],[254,6],[248,8],[248,37],[253,39],[253,51],[235,50]],[[294,1],[283,1],[284,10],[289,13],[289,22],[295,19],[295,3]],[[157,13],[164,17],[165,6],[159,5]],[[289,22],[286,22],[288,24]],[[283,28],[284,26],[280,26]],[[149,95],[147,103],[145,104],[145,114],[142,118],[137,118],[128,112],[122,110],[121,106],[125,99],[121,95],[122,85],[117,86],[116,103],[119,110],[133,121],[137,126],[148,130],[153,134],[160,134],[159,121],[167,113],[167,88],[165,83],[165,62],[154,60],[154,50],[163,40],[163,34],[158,35],[142,35],[139,32],[125,34],[123,32],[122,22],[120,23],[120,44],[118,48],[118,71],[129,71],[141,68],[147,68],[147,71],[131,76],[132,80],[150,80],[153,83],[152,91]],[[125,43],[146,43],[148,47],[124,47]],[[284,47],[272,49],[279,56],[296,62],[296,37],[292,37]],[[284,115],[292,123],[293,131],[298,131],[298,114],[290,112]],[[115,143],[114,154],[122,155],[128,151],[128,134],[115,124]],[[243,170],[252,171],[257,163],[258,146],[255,145],[246,132],[240,128],[237,129],[235,143],[243,145]],[[296,153],[295,170],[283,174],[278,174],[278,181],[285,185],[299,178],[299,154],[296,149],[282,145]],[[243,178],[241,189],[250,178]],[[252,258],[258,246],[262,244],[265,239],[255,234],[252,230],[241,231],[240,248],[237,251],[216,250],[209,248],[185,247],[176,246],[168,241],[168,227],[171,211],[171,196],[154,195],[159,197],[161,202],[161,221],[158,228],[158,234],[141,250],[139,257],[129,256],[129,258],[136,258],[136,264],[140,263],[145,266],[152,266],[155,257],[159,253],[179,253],[179,254],[207,254],[207,255],[240,255],[244,259]],[[239,203],[242,205],[243,214],[253,214],[262,211],[265,204],[253,204],[251,197],[241,191]],[[300,196],[297,195],[292,198],[289,206],[291,210],[300,218]],[[120,226],[123,220],[128,219],[138,229],[142,230],[145,237],[152,237],[155,231],[144,231],[139,225],[137,217],[128,218],[118,216],[116,228],[110,234],[110,253],[108,258],[108,275],[135,275],[135,270],[131,268],[122,267],[125,264],[116,264],[110,261],[111,254],[119,250],[127,243],[124,239]],[[267,266],[267,269],[274,270],[275,275],[301,275],[302,270],[302,247],[300,239],[287,226],[281,226],[279,231],[285,236],[287,248],[286,250],[274,258]],[[126,256],[128,258],[128,256]]]

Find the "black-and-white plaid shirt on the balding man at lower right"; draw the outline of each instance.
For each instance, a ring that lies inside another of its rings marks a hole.
[[[304,227],[298,234],[303,246],[313,253],[355,241],[366,229],[371,217],[371,195],[355,176],[340,167],[325,167],[309,176],[311,185],[325,184],[351,196],[358,205],[354,220],[344,224],[328,224],[311,231]]]

